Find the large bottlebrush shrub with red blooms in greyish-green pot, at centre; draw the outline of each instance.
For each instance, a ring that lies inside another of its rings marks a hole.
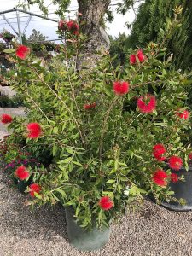
[[[163,44],[137,49],[125,67],[114,69],[106,53],[96,67],[77,71],[84,36],[72,31],[71,38],[46,68],[29,49],[13,50],[15,89],[28,104],[26,119],[9,128],[32,152],[50,152],[47,171],[28,189],[31,204],[60,202],[73,246],[94,250],[137,199],[149,193],[158,201],[172,198],[165,160],[186,159],[190,151],[181,142],[189,119],[178,114],[186,109],[187,76],[171,70]]]

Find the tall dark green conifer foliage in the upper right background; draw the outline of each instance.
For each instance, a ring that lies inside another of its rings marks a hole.
[[[177,68],[191,69],[192,2],[188,0],[146,0],[142,3],[131,36],[127,38],[127,48],[143,48],[150,41],[160,41],[160,29],[165,26],[167,18],[173,18],[174,9],[179,5],[183,7],[181,26],[167,39],[166,47],[173,53],[173,63]]]

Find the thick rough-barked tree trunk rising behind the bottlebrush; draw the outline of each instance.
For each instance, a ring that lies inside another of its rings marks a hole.
[[[79,66],[94,67],[99,55],[96,51],[108,51],[110,41],[102,23],[103,17],[111,0],[78,0],[80,21],[85,21],[82,32],[88,37],[84,44],[84,60],[79,60]],[[89,65],[89,66],[88,66]]]

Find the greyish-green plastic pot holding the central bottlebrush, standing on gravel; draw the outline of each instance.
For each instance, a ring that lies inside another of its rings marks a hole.
[[[103,228],[98,230],[84,230],[77,224],[73,218],[73,209],[66,207],[67,234],[73,247],[80,251],[93,251],[103,247],[109,240],[110,229]]]

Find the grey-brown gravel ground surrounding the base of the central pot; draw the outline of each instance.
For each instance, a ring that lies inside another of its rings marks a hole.
[[[170,212],[145,200],[112,225],[105,247],[82,253],[67,240],[62,207],[32,209],[26,201],[0,172],[0,256],[192,256],[192,212]]]

